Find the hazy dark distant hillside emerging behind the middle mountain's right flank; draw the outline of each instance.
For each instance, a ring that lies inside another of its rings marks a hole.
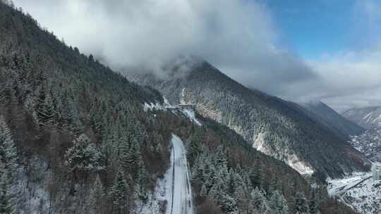
[[[308,103],[300,103],[300,105],[306,108],[306,113],[308,113],[311,118],[322,123],[344,140],[349,139],[350,136],[365,132],[363,127],[344,118],[321,101],[310,101]]]

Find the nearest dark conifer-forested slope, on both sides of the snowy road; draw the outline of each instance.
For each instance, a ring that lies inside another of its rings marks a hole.
[[[167,202],[154,198],[172,133],[186,143],[198,213],[271,211],[278,199],[291,211],[353,213],[327,197],[324,178],[311,188],[227,127],[145,108],[161,106],[162,95],[10,5],[0,1],[0,213],[164,213]]]

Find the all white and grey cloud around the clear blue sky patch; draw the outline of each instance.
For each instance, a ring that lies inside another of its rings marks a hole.
[[[381,46],[305,61],[277,45],[270,12],[254,0],[14,1],[67,44],[118,71],[158,73],[166,62],[193,55],[284,99],[319,99],[339,111],[381,104]],[[372,32],[358,41],[379,42],[380,4],[357,1],[354,9],[355,31]]]

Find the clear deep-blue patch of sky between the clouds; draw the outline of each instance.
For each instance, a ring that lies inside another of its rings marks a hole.
[[[303,58],[346,51],[356,42],[356,1],[266,0],[282,45]]]

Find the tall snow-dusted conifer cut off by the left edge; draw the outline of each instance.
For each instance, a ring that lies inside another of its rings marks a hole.
[[[0,115],[0,213],[14,212],[17,169],[17,151],[11,130]]]

